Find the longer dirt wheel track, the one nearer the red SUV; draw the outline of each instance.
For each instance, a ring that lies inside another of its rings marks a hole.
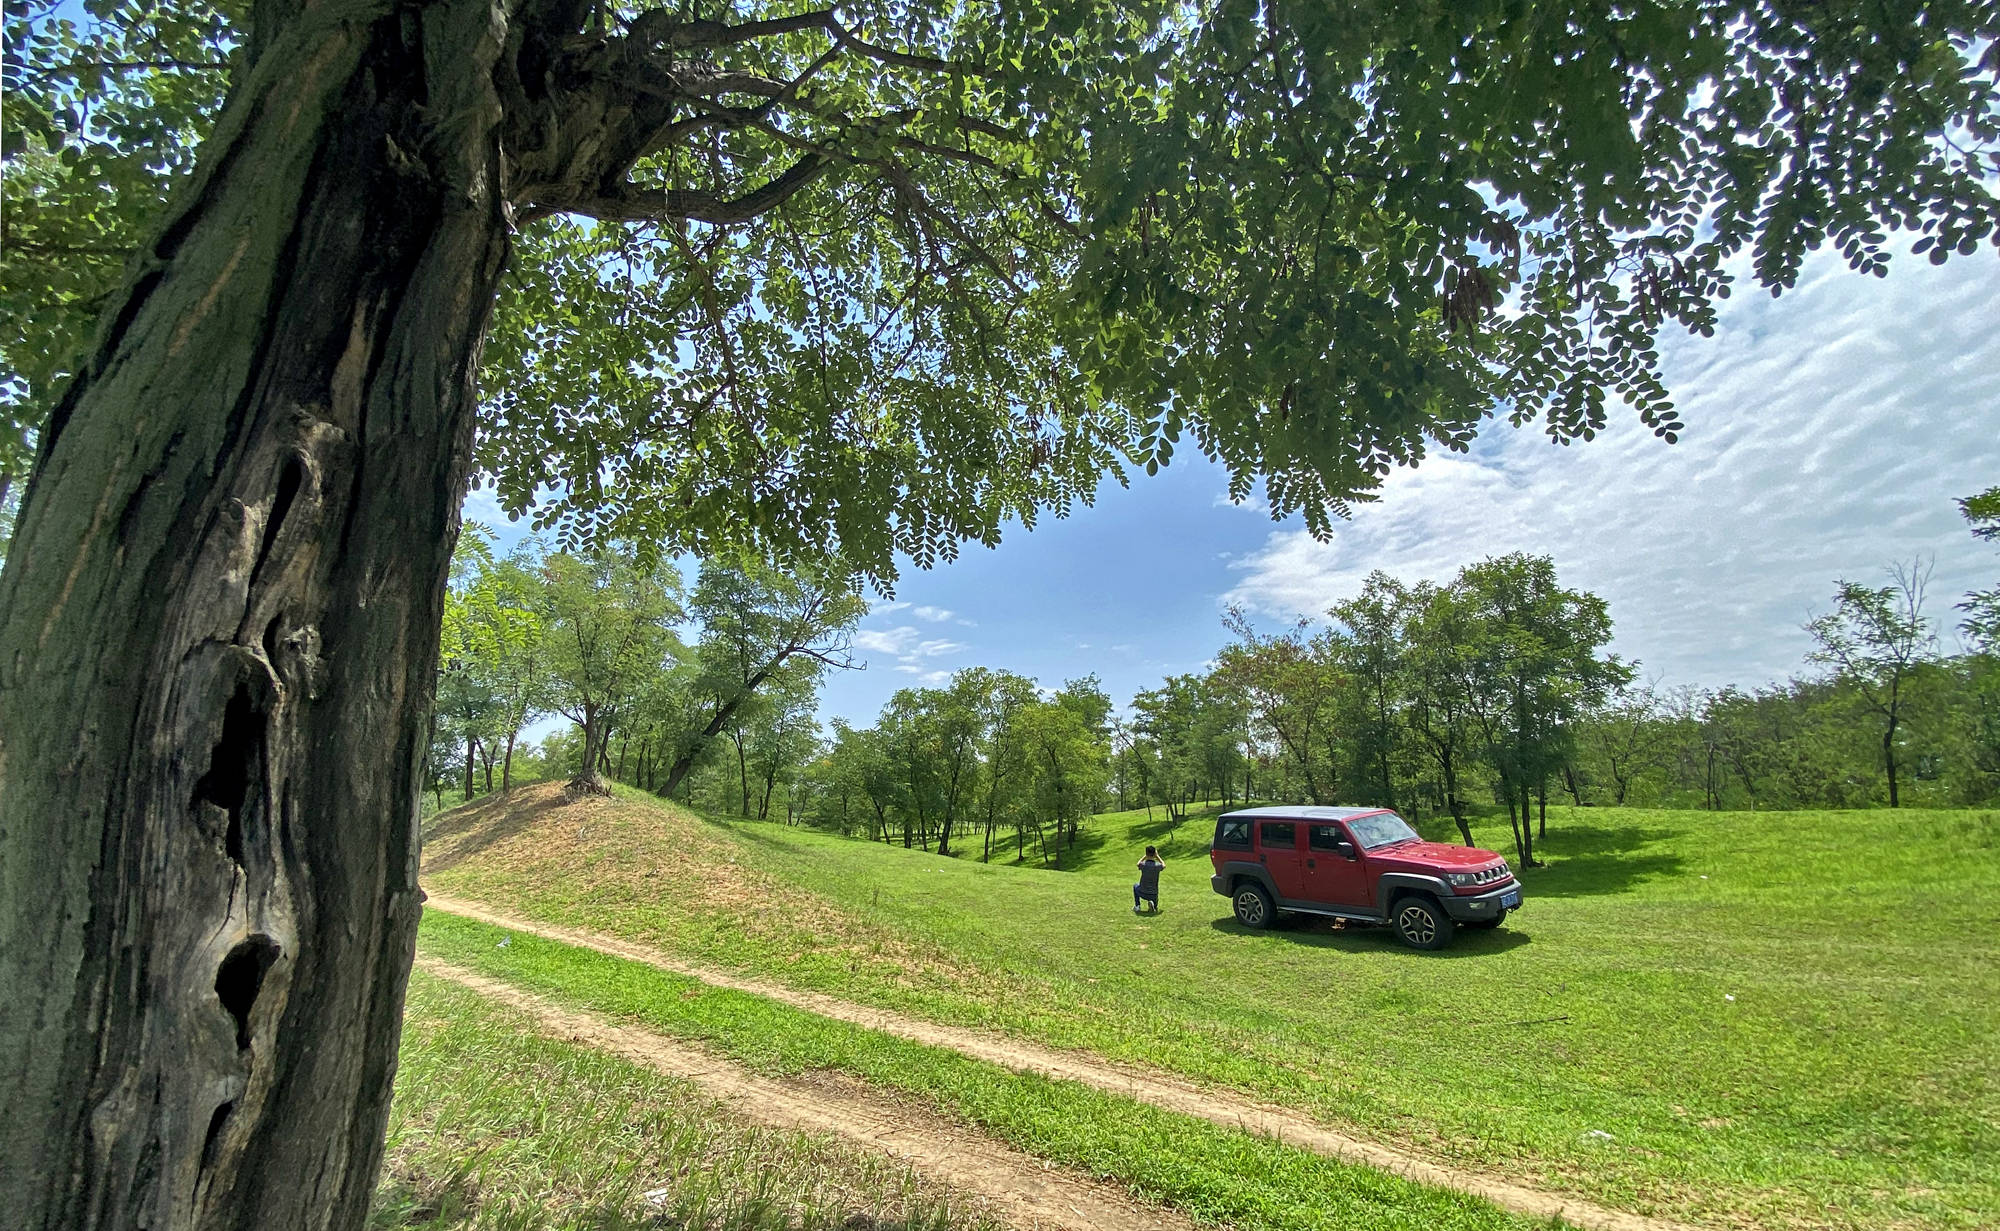
[[[616,957],[630,957],[632,961],[644,961],[654,969],[700,979],[702,983],[710,983],[714,987],[748,991],[752,995],[808,1009],[822,1017],[866,1025],[914,1043],[948,1047],[962,1055],[992,1061],[1020,1073],[1040,1073],[1044,1077],[1080,1081],[1096,1089],[1126,1095],[1140,1103],[1152,1103],[1164,1111],[1194,1115],[1230,1129],[1274,1137],[1286,1145],[1310,1149],[1328,1157],[1350,1163],[1366,1163],[1382,1171],[1394,1171],[1396,1175],[1418,1183],[1484,1197],[1502,1209],[1512,1209],[1514,1213],[1524,1213],[1528,1217],[1560,1217],[1576,1227],[1584,1227],[1586,1231],[1692,1231],[1686,1223],[1606,1209],[1576,1197],[1560,1197],[1556,1193],[1544,1193],[1526,1185],[1508,1183],[1492,1175],[1480,1175],[1478,1171],[1444,1167],[1396,1147],[1382,1145],[1380,1141],[1350,1137],[1300,1115],[1298,1111],[1258,1103],[1238,1093],[1198,1087],[1178,1077],[1168,1077],[1166,1073],[1142,1071],[1094,1055],[1058,1051],[1054,1047],[1042,1047],[1038,1043],[1008,1039],[1004,1035],[958,1025],[938,1025],[934,1021],[922,1021],[902,1013],[844,1001],[822,991],[800,991],[782,983],[768,983],[764,979],[748,979],[726,971],[690,965],[686,961],[676,961],[658,949],[634,945],[612,935],[540,923],[462,897],[432,893],[428,897],[428,905],[452,915],[464,915],[466,919],[492,923],[494,927],[508,927],[512,931],[524,931],[528,935],[540,935],[568,945],[598,949],[600,953],[612,953]]]

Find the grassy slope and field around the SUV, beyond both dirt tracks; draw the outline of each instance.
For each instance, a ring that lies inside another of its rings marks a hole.
[[[1242,933],[1208,891],[1206,827],[1144,813],[1042,871],[552,801],[440,817],[426,883],[1642,1213],[2000,1221],[1992,813],[1558,809],[1528,909],[1424,955],[1324,923]],[[1170,867],[1142,919],[1146,841]]]

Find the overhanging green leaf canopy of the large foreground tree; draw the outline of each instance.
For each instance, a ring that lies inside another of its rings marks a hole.
[[[10,474],[210,66],[258,48],[254,14],[86,8],[6,26]],[[1324,534],[1496,410],[1672,440],[1658,332],[1712,332],[1740,268],[2000,240],[1992,2],[506,16],[478,466],[566,542],[886,584],[1190,444]]]

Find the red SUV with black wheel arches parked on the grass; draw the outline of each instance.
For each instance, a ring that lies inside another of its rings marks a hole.
[[[1520,909],[1506,859],[1424,841],[1386,807],[1246,807],[1216,817],[1208,847],[1216,893],[1244,927],[1280,911],[1390,923],[1416,949],[1442,949],[1466,927],[1498,927]]]

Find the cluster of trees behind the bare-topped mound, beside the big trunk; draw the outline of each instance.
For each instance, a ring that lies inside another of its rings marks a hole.
[[[516,779],[522,731],[570,719],[522,765],[572,789],[622,779],[714,803],[724,781],[766,815],[794,747],[814,739],[826,669],[850,667],[866,604],[838,562],[780,570],[750,556],[670,562],[610,548],[494,556],[468,526],[446,594],[430,789],[472,799]],[[498,781],[496,781],[498,767]],[[754,781],[752,781],[754,775]]]

